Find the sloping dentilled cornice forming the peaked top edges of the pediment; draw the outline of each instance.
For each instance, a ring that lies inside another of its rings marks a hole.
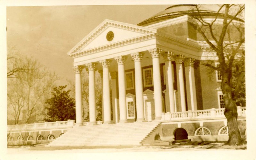
[[[120,28],[125,29],[137,33],[142,34],[149,34],[155,32],[155,29],[152,28],[144,28],[141,26],[131,25],[128,23],[122,23],[112,20],[104,20],[98,27],[98,29],[93,30],[91,33],[89,33],[84,39],[82,39],[75,47],[73,47],[69,52],[68,55],[71,55],[72,53],[78,52],[81,48],[89,44],[93,39],[95,39],[97,36],[100,35],[106,28],[108,27],[114,27],[114,28]]]

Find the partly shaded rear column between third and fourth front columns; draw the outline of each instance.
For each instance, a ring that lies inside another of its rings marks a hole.
[[[117,88],[116,88],[116,72],[110,72],[111,76],[111,89],[112,89],[112,113],[113,123],[118,122],[118,109],[117,109]]]

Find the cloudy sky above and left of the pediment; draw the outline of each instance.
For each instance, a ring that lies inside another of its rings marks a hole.
[[[7,7],[7,45],[33,56],[63,79],[74,80],[67,52],[103,20],[131,24],[148,19],[170,5],[83,5]]]

